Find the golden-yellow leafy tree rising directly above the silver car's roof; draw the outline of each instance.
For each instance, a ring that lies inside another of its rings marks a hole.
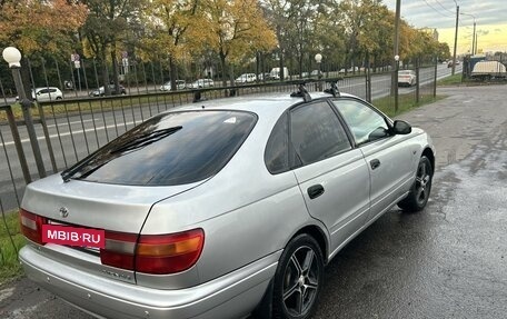
[[[209,48],[218,53],[223,74],[229,74],[233,84],[230,63],[239,62],[257,51],[271,50],[277,41],[262,10],[256,0],[202,0],[202,32]],[[222,78],[227,84],[227,78]]]

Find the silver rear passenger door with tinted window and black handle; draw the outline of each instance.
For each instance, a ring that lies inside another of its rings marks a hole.
[[[289,113],[291,161],[309,213],[329,230],[331,253],[365,222],[369,173],[359,149],[325,100]]]

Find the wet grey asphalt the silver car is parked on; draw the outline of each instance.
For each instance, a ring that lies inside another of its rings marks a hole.
[[[438,94],[399,117],[437,148],[427,208],[395,208],[345,247],[314,318],[507,318],[507,86]],[[0,287],[0,318],[91,317],[21,279]]]

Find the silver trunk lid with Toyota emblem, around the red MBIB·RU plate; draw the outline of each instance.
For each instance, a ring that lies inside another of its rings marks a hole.
[[[171,187],[136,187],[70,180],[59,175],[30,183],[21,209],[44,218],[46,225],[91,228],[108,232],[139,235],[153,203],[199,183]],[[136,236],[133,237],[136,238]],[[102,265],[98,248],[36,245],[51,259],[101,277],[136,283],[133,270]]]

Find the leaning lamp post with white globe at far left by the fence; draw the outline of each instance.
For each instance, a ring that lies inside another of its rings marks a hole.
[[[21,52],[14,47],[7,47],[2,52],[3,60],[9,63],[9,68],[12,70],[12,78],[14,79],[16,91],[18,91],[19,101],[21,103],[21,110],[23,112],[24,124],[27,126],[28,136],[33,150],[33,157],[36,158],[37,169],[39,177],[46,177],[46,169],[42,161],[42,156],[37,141],[36,130],[33,128],[33,120],[30,113],[30,107],[32,102],[27,98],[24,92],[23,81],[21,79]]]

